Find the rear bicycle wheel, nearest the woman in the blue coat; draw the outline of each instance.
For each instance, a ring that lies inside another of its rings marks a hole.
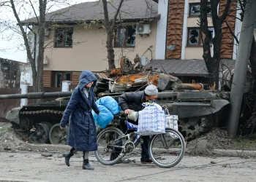
[[[99,132],[98,150],[94,154],[102,165],[115,165],[122,158],[120,154],[124,151],[125,143],[125,139],[120,138],[122,135],[124,133],[116,127],[108,127]]]

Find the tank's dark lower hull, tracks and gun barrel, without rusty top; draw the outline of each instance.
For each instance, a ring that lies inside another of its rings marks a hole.
[[[223,124],[223,111],[229,104],[228,100],[219,98],[219,92],[198,91],[163,91],[159,92],[157,103],[166,105],[172,115],[178,115],[178,130],[187,140],[193,139],[202,133],[208,132],[212,127]],[[0,99],[7,98],[58,98],[50,102],[31,103],[26,106],[12,108],[8,111],[6,119],[22,131],[30,131],[31,143],[66,143],[68,126],[65,130],[59,129],[59,122],[69,102],[71,92],[29,93],[28,95],[0,95]],[[110,95],[118,100],[121,93],[102,93],[100,97]],[[118,120],[125,119],[117,115],[109,124],[117,124]]]

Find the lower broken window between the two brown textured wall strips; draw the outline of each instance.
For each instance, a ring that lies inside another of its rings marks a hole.
[[[187,37],[188,37],[187,39],[188,46],[203,45],[203,41],[200,35],[200,28],[189,28]],[[208,28],[208,38],[209,38],[210,44],[212,44],[212,39],[214,38],[214,28],[212,27]]]

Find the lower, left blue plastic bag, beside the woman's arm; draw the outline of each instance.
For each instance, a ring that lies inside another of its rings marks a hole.
[[[94,111],[91,111],[92,116],[94,116],[94,122],[98,127],[104,129],[108,126],[108,124],[113,120],[113,114],[102,105],[97,105],[99,108],[99,115],[97,115]]]

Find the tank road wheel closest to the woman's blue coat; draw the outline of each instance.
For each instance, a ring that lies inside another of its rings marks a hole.
[[[52,144],[66,144],[67,134],[69,132],[69,127],[65,127],[65,130],[61,130],[59,124],[54,124],[50,128],[50,143]]]

